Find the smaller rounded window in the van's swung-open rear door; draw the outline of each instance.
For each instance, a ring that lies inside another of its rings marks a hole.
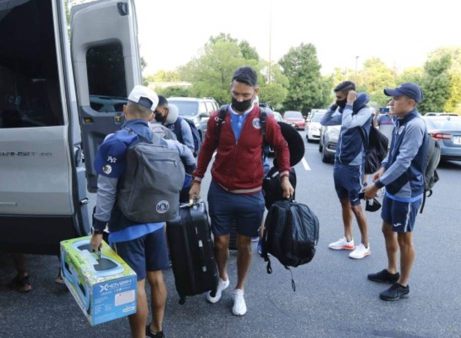
[[[123,111],[127,92],[122,45],[90,47],[86,62],[91,108],[98,112]]]

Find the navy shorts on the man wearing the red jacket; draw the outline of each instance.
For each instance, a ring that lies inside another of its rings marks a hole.
[[[236,220],[237,233],[258,237],[258,229],[263,221],[264,197],[262,192],[251,195],[234,194],[225,191],[211,181],[208,190],[208,209],[211,230],[216,236],[231,232],[231,224]]]

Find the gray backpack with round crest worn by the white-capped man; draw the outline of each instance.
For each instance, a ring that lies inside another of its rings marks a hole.
[[[130,130],[130,132],[133,132]],[[176,150],[152,133],[126,152],[126,171],[117,191],[123,215],[137,223],[165,222],[177,216],[184,166]]]

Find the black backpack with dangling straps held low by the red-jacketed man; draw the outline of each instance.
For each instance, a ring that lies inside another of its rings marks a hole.
[[[297,267],[314,258],[318,241],[319,219],[307,205],[293,200],[275,202],[264,224],[261,256],[268,262],[267,272],[272,273],[268,253],[290,270],[289,266]],[[293,274],[291,282],[296,291]]]

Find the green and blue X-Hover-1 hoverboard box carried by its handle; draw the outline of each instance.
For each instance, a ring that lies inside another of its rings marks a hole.
[[[101,258],[91,236],[61,242],[64,281],[91,325],[136,313],[136,273],[102,242]]]

